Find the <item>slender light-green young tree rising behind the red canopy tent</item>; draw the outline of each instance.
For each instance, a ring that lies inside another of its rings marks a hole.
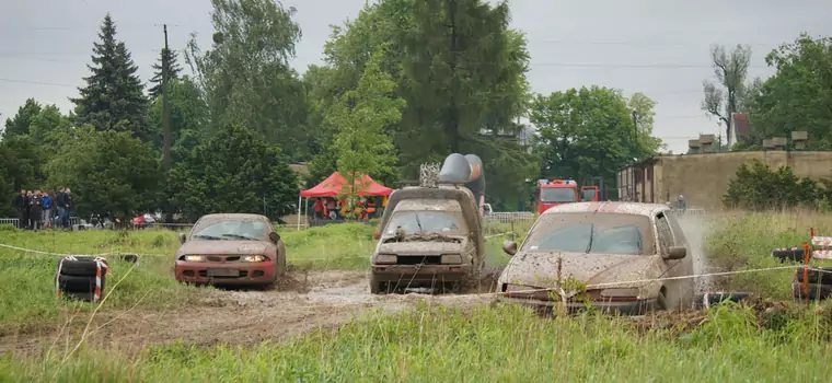
[[[362,174],[378,177],[391,173],[396,161],[384,127],[402,118],[405,101],[391,96],[396,83],[381,69],[382,51],[370,60],[358,88],[344,94],[327,114],[330,124],[338,128],[333,149],[338,172],[347,178],[344,193],[351,197],[350,204],[356,193],[366,187]]]

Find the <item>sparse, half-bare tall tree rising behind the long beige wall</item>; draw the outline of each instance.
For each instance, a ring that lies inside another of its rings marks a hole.
[[[733,50],[715,45],[710,48],[710,60],[717,83],[705,80],[703,88],[705,98],[702,109],[725,124],[728,148],[731,147],[731,115],[748,111],[748,66],[751,61],[751,47],[737,45]],[[723,90],[725,89],[725,90]]]

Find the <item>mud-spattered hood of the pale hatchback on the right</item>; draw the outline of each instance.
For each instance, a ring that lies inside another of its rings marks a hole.
[[[502,270],[498,283],[551,288],[557,280],[558,257],[563,259],[563,279],[571,277],[587,285],[643,281],[659,278],[663,272],[661,258],[650,255],[519,253]],[[615,287],[645,285],[647,283],[636,282]]]

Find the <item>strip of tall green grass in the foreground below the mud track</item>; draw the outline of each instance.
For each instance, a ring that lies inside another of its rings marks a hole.
[[[829,316],[829,311],[825,312]],[[765,321],[765,320],[763,320]],[[832,373],[829,321],[788,325],[716,309],[683,333],[586,314],[540,320],[517,306],[428,309],[253,348],[182,343],[132,358],[84,349],[66,364],[0,359],[3,381],[71,382],[782,382]]]

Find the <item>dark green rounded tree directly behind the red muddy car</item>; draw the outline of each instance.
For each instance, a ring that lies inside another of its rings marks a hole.
[[[275,219],[293,211],[299,192],[297,175],[280,149],[254,130],[235,126],[200,143],[171,173],[176,206],[192,221],[220,211]]]

